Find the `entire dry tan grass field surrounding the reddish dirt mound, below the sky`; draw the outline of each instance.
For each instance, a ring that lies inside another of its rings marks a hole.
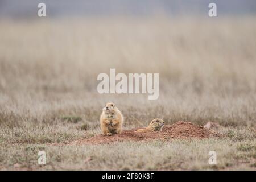
[[[255,169],[255,131],[249,129],[256,125],[255,22],[1,20],[0,168],[20,163],[27,169]],[[160,73],[159,99],[98,94],[97,75],[110,68]],[[223,131],[224,139],[47,146],[100,133],[98,117],[108,101],[125,115],[126,128],[152,118],[232,128]],[[120,152],[127,145],[131,151]],[[209,147],[220,156],[215,167],[205,163]],[[36,164],[40,148],[47,151],[47,166]],[[88,156],[92,160],[84,164]]]

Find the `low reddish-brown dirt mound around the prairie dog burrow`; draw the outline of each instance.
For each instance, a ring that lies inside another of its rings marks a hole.
[[[142,141],[142,140],[152,140],[152,139],[174,139],[174,138],[208,138],[208,137],[218,137],[218,133],[204,129],[203,126],[195,125],[191,122],[179,121],[173,125],[166,125],[163,127],[162,132],[151,131],[147,133],[135,133],[132,130],[123,130],[121,134],[115,134],[112,136],[96,135],[88,139],[81,139],[73,141],[69,144],[102,144],[111,142],[122,142],[127,140],[132,141]]]

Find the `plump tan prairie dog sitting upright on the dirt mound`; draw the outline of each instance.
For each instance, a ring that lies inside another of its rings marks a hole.
[[[104,135],[121,133],[123,125],[123,115],[114,103],[108,102],[103,108],[101,117],[101,131]]]

